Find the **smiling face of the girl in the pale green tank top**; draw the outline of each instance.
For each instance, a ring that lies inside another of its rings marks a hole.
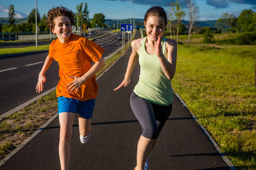
[[[156,41],[158,36],[164,35],[165,22],[164,18],[161,16],[148,16],[146,22],[144,21],[146,27],[146,35],[152,40]]]

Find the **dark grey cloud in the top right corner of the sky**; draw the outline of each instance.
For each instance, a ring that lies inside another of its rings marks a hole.
[[[209,6],[215,6],[215,8],[227,8],[229,3],[235,4],[248,4],[255,6],[255,0],[206,0],[206,4]]]

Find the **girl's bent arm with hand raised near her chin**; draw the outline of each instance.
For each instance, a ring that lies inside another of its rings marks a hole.
[[[177,43],[174,40],[167,40],[167,59],[161,50],[161,37],[156,43],[156,55],[159,57],[161,68],[167,79],[172,79],[176,71]]]

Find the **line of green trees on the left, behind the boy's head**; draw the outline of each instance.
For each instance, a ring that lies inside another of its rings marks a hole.
[[[103,13],[95,13],[93,18],[90,20],[87,2],[80,3],[76,6],[76,12],[74,12],[74,26],[85,28],[95,28],[95,27],[106,27],[105,26],[105,15]],[[28,15],[26,23],[15,24],[15,10],[14,5],[9,6],[9,24],[4,26],[0,23],[1,33],[12,33],[12,32],[35,32],[36,31],[36,8],[33,8],[31,13]],[[49,31],[46,26],[46,14],[43,14],[41,18],[40,13],[37,11],[37,23],[39,31]]]

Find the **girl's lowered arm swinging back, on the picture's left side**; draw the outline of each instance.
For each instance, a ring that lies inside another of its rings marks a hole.
[[[127,71],[124,74],[124,80],[122,83],[114,89],[114,91],[117,91],[120,89],[122,86],[126,87],[129,84],[130,77],[132,75],[132,72],[134,70],[134,67],[136,66],[137,62],[139,61],[139,55],[138,55],[138,50],[139,50],[139,45],[140,45],[141,39],[133,40],[131,43],[132,46],[132,54],[129,57],[129,62],[127,65]]]

